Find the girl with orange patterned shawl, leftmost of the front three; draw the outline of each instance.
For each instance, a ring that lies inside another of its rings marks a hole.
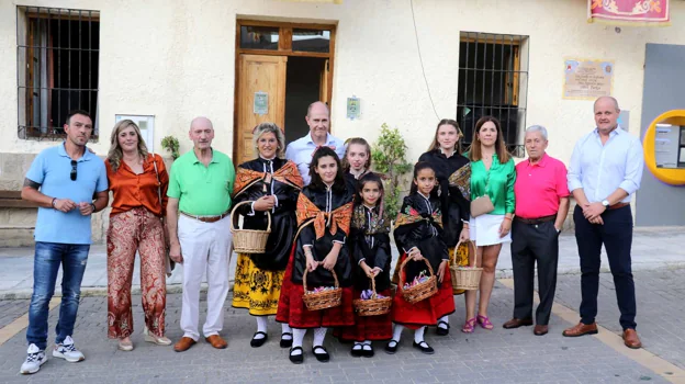
[[[277,321],[293,328],[290,361],[304,361],[302,341],[307,329],[314,329],[312,353],[316,360],[330,359],[323,347],[329,327],[350,326],[352,309],[352,263],[348,240],[352,216],[352,195],[347,188],[340,160],[328,147],[316,149],[310,165],[312,183],[300,193],[296,207],[297,234],[285,271],[279,300]],[[343,291],[341,304],[335,307],[308,310],[303,302],[303,275],[307,270],[308,291],[332,287],[335,272]]]

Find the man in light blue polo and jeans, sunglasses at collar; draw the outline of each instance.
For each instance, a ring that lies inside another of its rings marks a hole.
[[[61,305],[53,357],[68,362],[85,359],[76,349],[71,334],[90,250],[90,217],[108,205],[108,180],[104,162],[86,148],[93,131],[88,112],[69,112],[64,129],[67,139],[38,154],[22,189],[22,199],[38,204],[33,295],[26,329],[29,350],[20,371],[24,374],[38,372],[47,361],[48,304],[60,264]]]

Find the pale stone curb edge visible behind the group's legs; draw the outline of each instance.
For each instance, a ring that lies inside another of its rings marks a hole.
[[[638,262],[632,264],[633,272],[649,272],[649,271],[673,271],[685,269],[685,261],[674,261],[674,262],[659,262],[659,263],[644,263]],[[608,267],[602,267],[599,269],[599,273],[611,273]],[[580,275],[581,269],[580,267],[562,267],[557,271],[558,275]],[[513,279],[513,271],[510,269],[498,269],[495,271],[495,279]],[[233,280],[228,280],[228,292],[233,292]],[[81,297],[94,297],[94,296],[106,296],[108,287],[104,286],[81,286]],[[207,285],[206,283],[202,283],[200,285],[200,292],[206,293]],[[182,284],[167,284],[167,293],[176,294],[182,293],[183,285]],[[0,300],[30,300],[33,294],[33,290],[30,289],[20,289],[20,290],[7,290],[0,291]],[[141,294],[141,285],[133,285],[131,289],[132,295]],[[61,292],[59,290],[55,290],[54,297],[61,297]]]

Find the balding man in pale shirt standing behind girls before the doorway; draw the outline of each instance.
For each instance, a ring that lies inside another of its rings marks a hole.
[[[288,145],[285,148],[285,158],[297,165],[297,170],[302,174],[304,184],[308,185],[312,181],[310,176],[310,163],[314,150],[318,147],[329,147],[333,149],[340,160],[345,156],[345,142],[330,135],[330,112],[328,106],[321,101],[316,101],[307,108],[307,115],[304,117],[310,126],[310,134],[299,138]]]

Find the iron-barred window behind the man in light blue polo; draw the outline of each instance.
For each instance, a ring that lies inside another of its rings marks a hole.
[[[88,111],[98,135],[99,12],[18,7],[18,133],[61,139],[70,110]]]

